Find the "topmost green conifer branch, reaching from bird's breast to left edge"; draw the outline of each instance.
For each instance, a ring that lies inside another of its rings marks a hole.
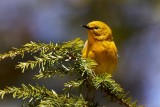
[[[41,54],[45,54],[56,50],[64,51],[67,48],[74,48],[76,51],[82,47],[82,44],[83,41],[81,41],[80,38],[77,38],[74,41],[66,42],[63,44],[63,46],[61,46],[60,43],[53,44],[52,42],[50,42],[49,44],[45,44],[31,41],[30,43],[23,45],[21,48],[12,48],[11,51],[4,54],[0,54],[0,60],[6,58],[14,58],[18,55],[21,55],[23,58],[26,53],[34,54],[36,52],[41,52]]]

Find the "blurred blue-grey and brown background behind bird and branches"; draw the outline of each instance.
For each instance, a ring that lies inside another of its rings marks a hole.
[[[138,104],[160,107],[160,1],[158,0],[0,0],[0,53],[29,41],[63,42],[87,39],[80,25],[93,20],[106,22],[119,50],[116,81]],[[0,62],[0,89],[32,83],[37,73],[15,69],[20,58]],[[63,80],[59,80],[63,82]],[[63,84],[39,82],[60,92]],[[33,84],[34,84],[33,83]],[[19,107],[11,96],[1,107]],[[120,107],[109,103],[109,107]]]

